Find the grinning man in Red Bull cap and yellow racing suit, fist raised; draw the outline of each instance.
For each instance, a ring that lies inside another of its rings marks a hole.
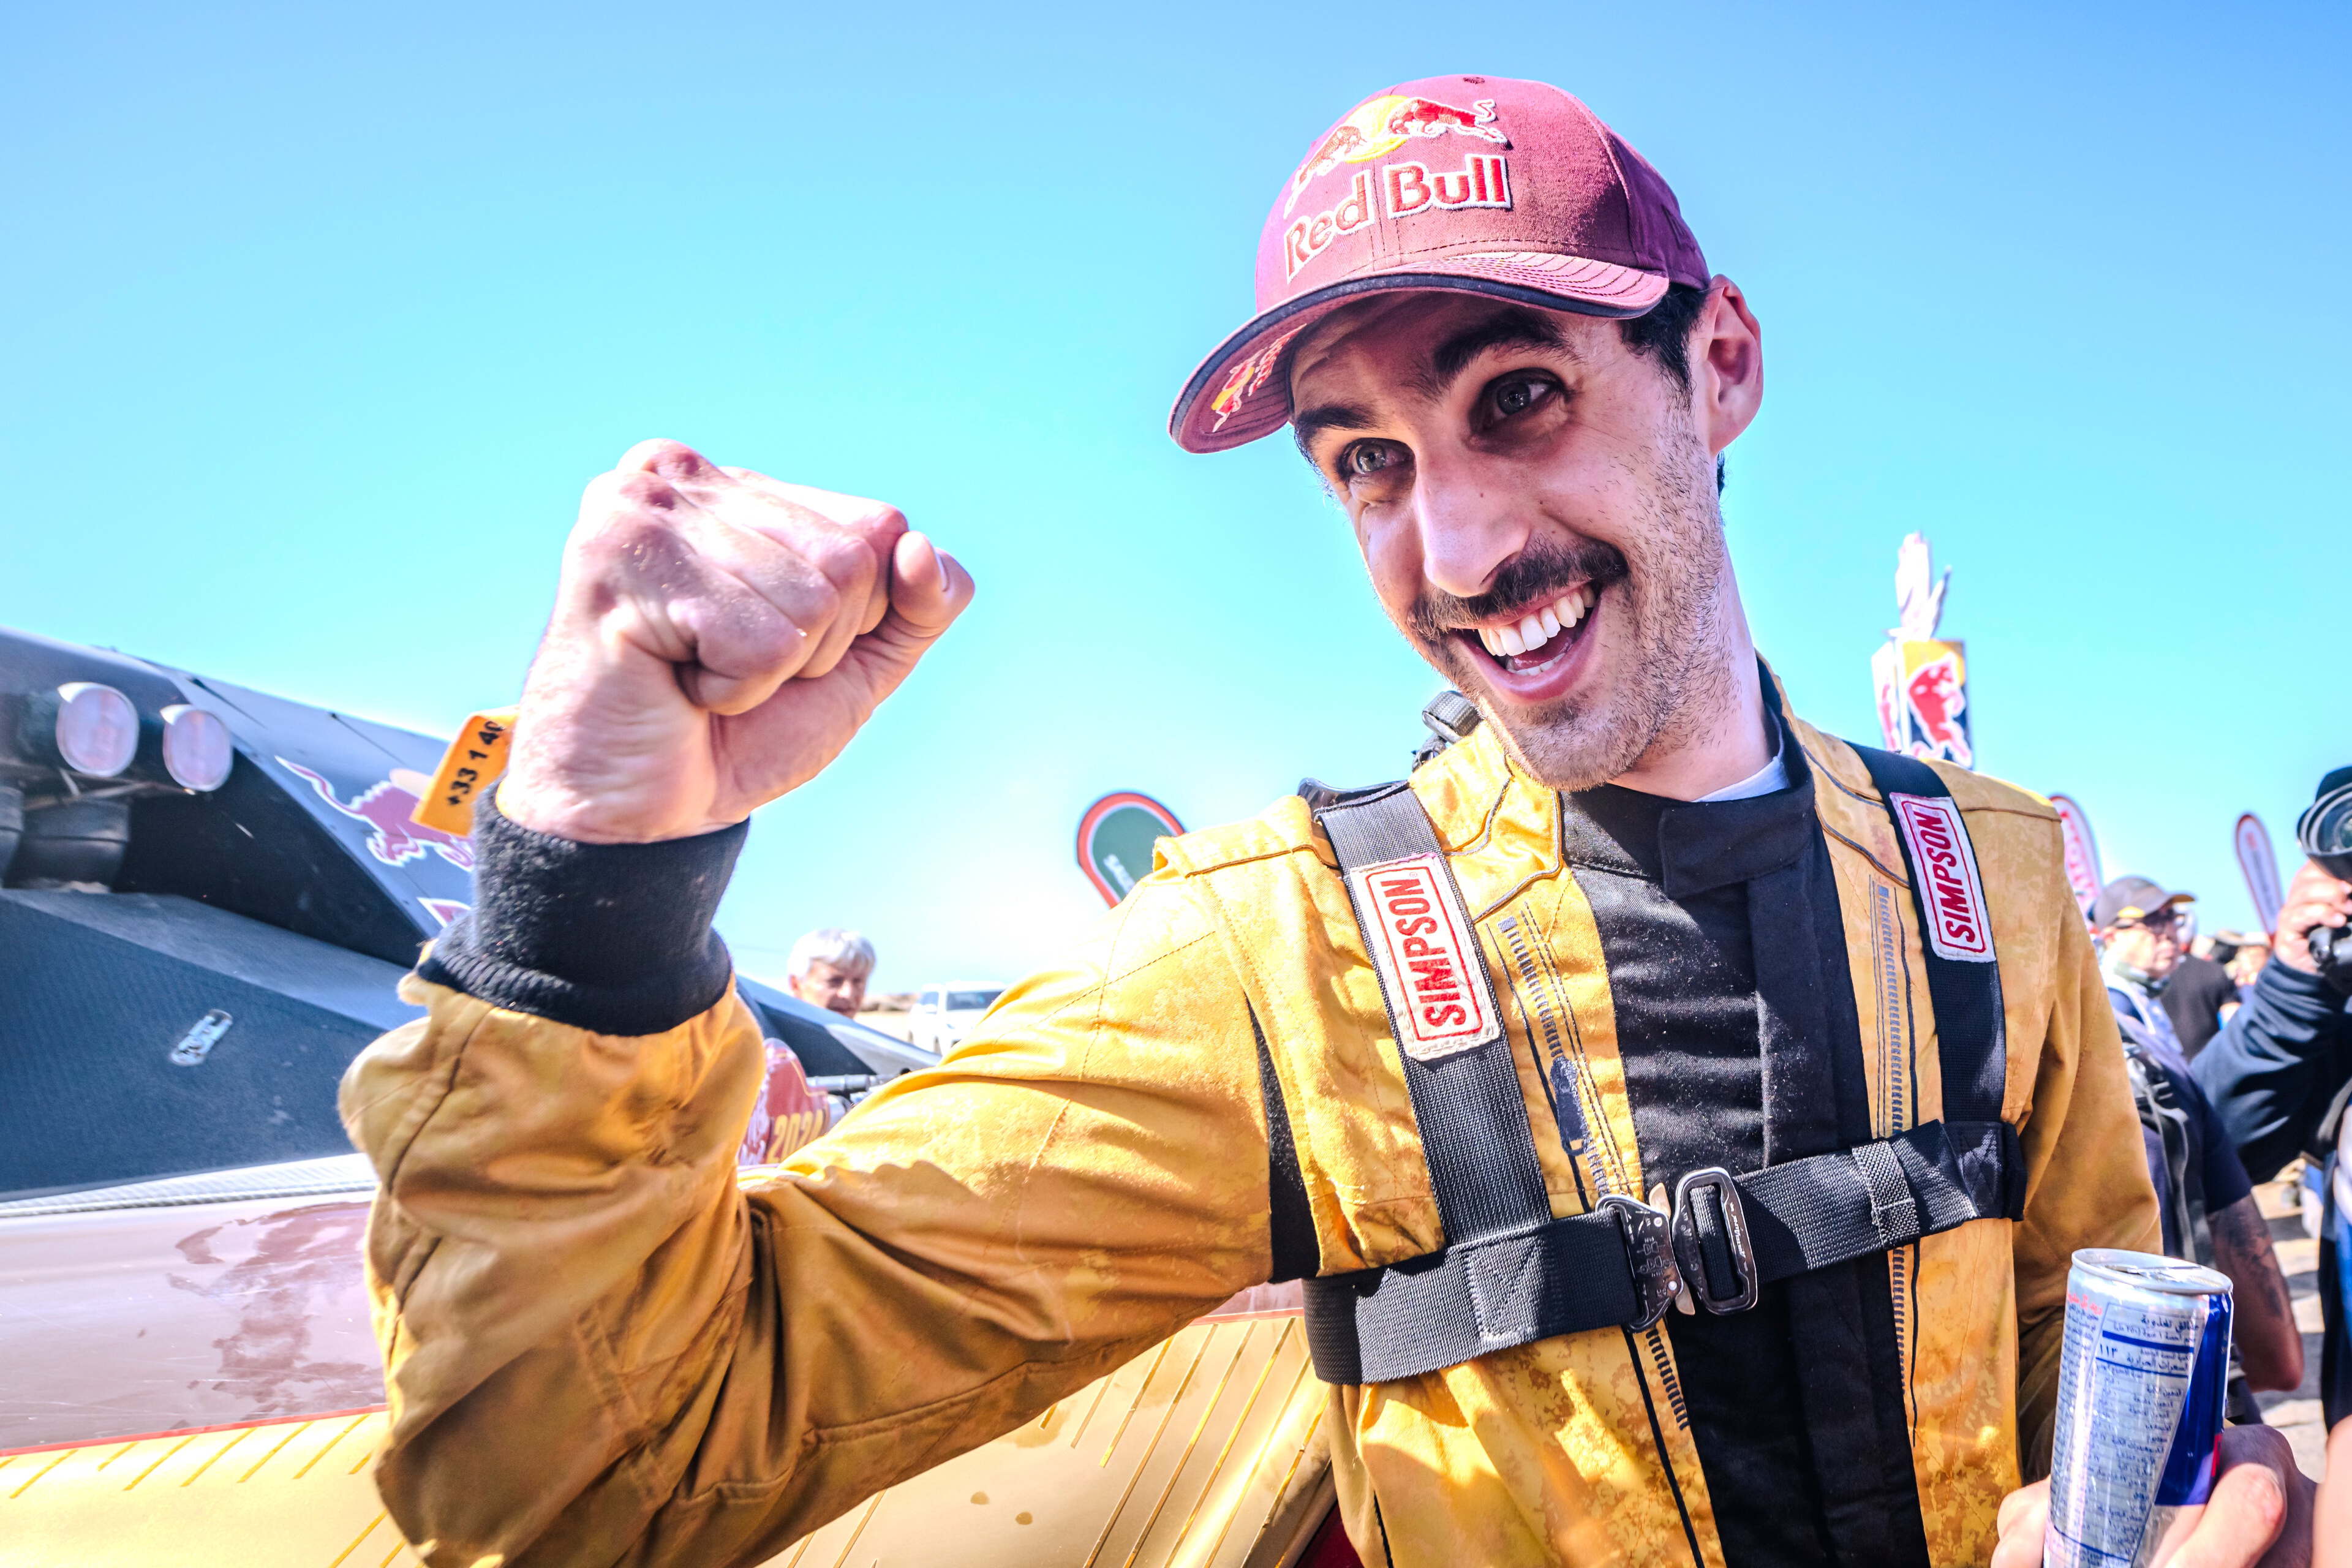
[[[2051,806],[1830,738],[1757,661],[1717,489],[1759,397],[1748,296],[1581,101],[1350,108],[1171,433],[1287,425],[1479,722],[1164,839],[748,1192],[710,912],[974,585],[677,442],[597,477],[475,912],[343,1088],[402,1533],[760,1561],[1303,1279],[1369,1563],[1985,1561],[2067,1258],[2157,1206]]]

